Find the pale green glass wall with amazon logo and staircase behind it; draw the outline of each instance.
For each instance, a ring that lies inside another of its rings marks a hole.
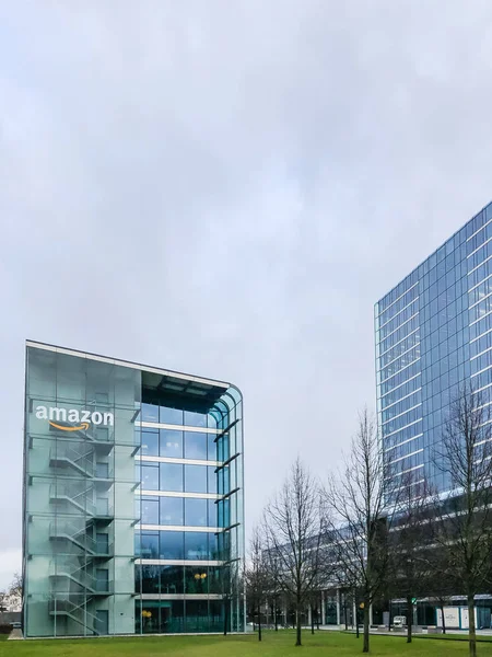
[[[134,632],[140,395],[136,369],[27,347],[26,636]]]

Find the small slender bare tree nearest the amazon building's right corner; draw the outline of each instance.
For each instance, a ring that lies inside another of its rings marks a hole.
[[[253,616],[258,614],[258,641],[261,641],[261,607],[265,606],[272,587],[268,568],[265,540],[258,527],[253,531],[249,560],[245,568],[246,599],[251,606]]]

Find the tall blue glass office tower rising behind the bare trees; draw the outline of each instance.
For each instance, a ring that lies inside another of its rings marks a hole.
[[[464,383],[492,399],[492,204],[375,306],[377,412],[391,476],[449,489],[433,463]]]

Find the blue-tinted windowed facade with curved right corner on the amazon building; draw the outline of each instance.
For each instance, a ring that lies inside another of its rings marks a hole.
[[[243,632],[241,394],[202,412],[143,403],[140,419],[136,632]]]

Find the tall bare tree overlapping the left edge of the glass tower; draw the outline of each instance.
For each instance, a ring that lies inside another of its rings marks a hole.
[[[376,423],[364,410],[345,457],[344,466],[331,476],[325,494],[327,523],[342,586],[354,591],[363,608],[363,652],[370,652],[371,604],[384,588],[389,566],[387,533],[395,506],[389,471],[380,458]]]

